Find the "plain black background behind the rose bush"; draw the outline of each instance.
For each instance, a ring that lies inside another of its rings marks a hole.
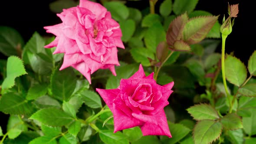
[[[35,31],[41,35],[49,35],[43,26],[51,26],[60,23],[56,13],[49,10],[49,3],[55,0],[1,0],[0,2],[0,26],[10,26],[15,28],[27,42]],[[163,0],[159,0],[158,7]],[[241,59],[246,65],[249,56],[256,50],[254,45],[255,33],[253,33],[253,4],[249,0],[199,0],[196,10],[205,10],[213,15],[220,15],[219,21],[222,23],[223,14],[227,14],[227,5],[239,3],[239,14],[235,19],[233,32],[226,39],[226,53],[234,52],[234,55]],[[143,10],[149,6],[148,0],[128,1],[128,7],[135,7]],[[226,15],[227,17],[227,15]],[[218,46],[217,52],[221,51]],[[7,57],[0,54],[1,59]],[[7,115],[0,112],[0,125],[5,132]]]

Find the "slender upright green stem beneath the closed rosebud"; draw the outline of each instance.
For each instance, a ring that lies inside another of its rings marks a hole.
[[[225,42],[226,42],[227,35],[223,35],[222,34],[221,36],[222,36],[222,49],[221,49],[221,72],[222,72],[222,79],[223,79],[223,85],[224,85],[225,92],[226,92],[226,97],[227,97],[227,99],[229,101],[229,104],[230,104],[230,111],[232,111],[232,108],[231,108],[231,98],[230,98],[230,94],[229,94],[228,89],[227,89],[226,76],[225,76]]]

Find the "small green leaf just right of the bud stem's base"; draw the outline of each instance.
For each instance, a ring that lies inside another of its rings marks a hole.
[[[236,130],[239,128],[243,128],[241,118],[234,113],[225,115],[223,118],[220,119],[220,122],[227,130]]]

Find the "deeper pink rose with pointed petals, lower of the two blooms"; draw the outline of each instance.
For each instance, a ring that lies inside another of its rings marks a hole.
[[[173,92],[174,82],[161,86],[153,75],[146,77],[140,65],[138,72],[129,79],[121,79],[118,88],[96,88],[113,113],[114,132],[139,126],[144,136],[171,137],[164,107],[169,104],[167,99]]]

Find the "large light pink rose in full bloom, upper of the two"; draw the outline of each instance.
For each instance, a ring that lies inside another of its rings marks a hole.
[[[99,3],[80,0],[78,7],[63,9],[57,16],[62,23],[44,29],[56,35],[45,48],[56,46],[53,54],[64,53],[59,70],[72,66],[90,83],[91,74],[98,69],[110,69],[116,75],[115,65],[120,65],[117,47],[125,47],[120,25],[111,18],[110,12]]]

